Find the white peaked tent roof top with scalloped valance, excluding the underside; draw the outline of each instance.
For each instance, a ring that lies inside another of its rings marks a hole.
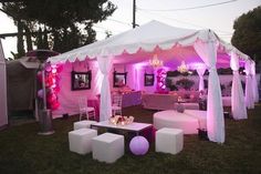
[[[112,38],[52,57],[49,61],[51,63],[65,63],[66,61],[83,61],[86,58],[118,57],[123,53],[134,54],[140,50],[153,52],[157,48],[170,50],[175,45],[194,45],[197,40],[217,42],[225,53],[229,54],[229,52],[233,50],[239,58],[243,60],[248,59],[248,55],[241,53],[231,44],[220,40],[211,30],[181,29],[158,21],[152,21]]]

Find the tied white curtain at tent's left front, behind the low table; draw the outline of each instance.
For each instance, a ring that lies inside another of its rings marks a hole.
[[[108,120],[112,116],[112,99],[109,90],[108,73],[112,69],[111,57],[98,57],[98,68],[103,74],[103,82],[101,88],[101,103],[100,103],[100,121]]]

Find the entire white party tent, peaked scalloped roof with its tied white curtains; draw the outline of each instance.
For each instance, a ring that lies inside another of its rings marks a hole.
[[[177,66],[181,60],[186,60],[187,63],[203,63],[207,66],[210,72],[207,111],[208,136],[213,142],[223,143],[223,109],[217,68],[229,66],[231,61],[231,68],[237,74],[233,82],[232,112],[236,111],[236,119],[246,119],[247,110],[242,86],[238,83],[238,69],[244,61],[250,63],[253,61],[231,44],[225,43],[211,30],[180,29],[152,21],[106,40],[50,58],[49,61],[56,64],[97,59],[100,70],[104,74],[101,90],[101,109],[103,109],[101,117],[105,120],[112,112],[111,101],[107,100],[111,99],[107,79],[111,64],[147,61],[155,53],[173,66]],[[233,59],[230,59],[230,55]]]

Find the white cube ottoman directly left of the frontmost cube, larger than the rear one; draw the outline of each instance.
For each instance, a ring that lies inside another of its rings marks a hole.
[[[69,132],[70,151],[86,154],[92,151],[92,139],[97,136],[96,130],[80,129]]]

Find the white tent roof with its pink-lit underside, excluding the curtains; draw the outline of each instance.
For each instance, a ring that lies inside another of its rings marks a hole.
[[[187,63],[201,62],[192,48],[198,39],[219,42],[218,66],[229,62],[230,58],[227,52],[231,50],[237,51],[241,58],[248,59],[246,54],[221,41],[211,30],[180,29],[152,21],[106,40],[50,58],[49,61],[51,63],[65,63],[66,61],[83,61],[86,58],[95,59],[96,57],[113,55],[116,57],[114,63],[128,64],[148,61],[157,53],[158,58],[167,64],[177,65],[180,64],[181,60]]]

